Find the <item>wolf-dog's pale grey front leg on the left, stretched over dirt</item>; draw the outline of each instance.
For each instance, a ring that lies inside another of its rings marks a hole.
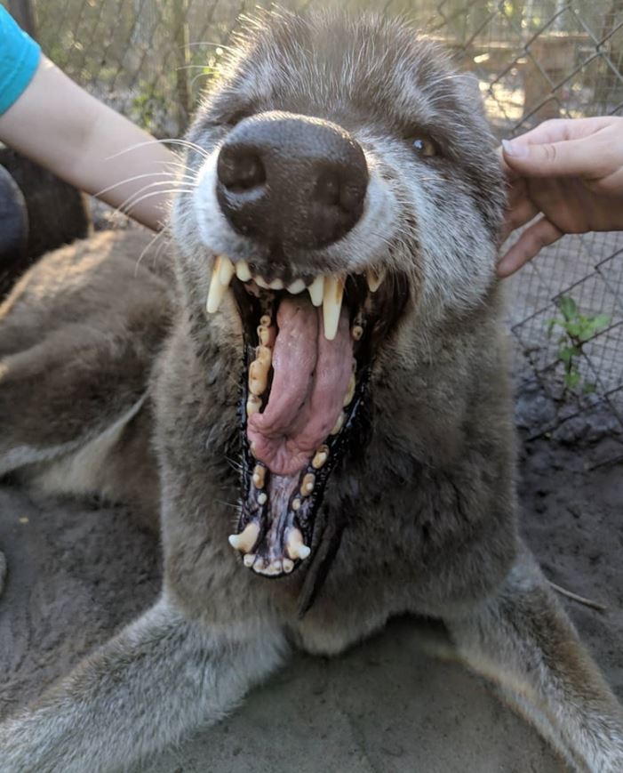
[[[220,720],[280,664],[284,648],[268,619],[211,630],[163,598],[31,710],[0,725],[0,769],[129,769]]]

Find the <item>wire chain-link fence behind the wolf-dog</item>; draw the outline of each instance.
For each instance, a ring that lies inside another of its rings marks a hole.
[[[13,10],[29,5],[44,52],[70,76],[163,138],[180,136],[188,125],[240,14],[270,5],[8,4]],[[320,4],[281,5],[297,11]],[[477,76],[500,138],[552,117],[623,115],[623,0],[339,3],[345,5],[401,13],[443,42],[459,67]],[[574,440],[606,438],[598,461],[623,458],[623,234],[564,237],[507,286],[515,373],[520,397],[527,396],[520,425],[530,437],[553,432]],[[597,315],[600,324],[591,328]],[[556,318],[567,325],[552,323]]]

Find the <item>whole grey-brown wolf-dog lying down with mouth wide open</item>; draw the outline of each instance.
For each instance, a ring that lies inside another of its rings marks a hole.
[[[517,532],[504,187],[469,77],[402,22],[268,14],[187,146],[170,275],[98,237],[2,308],[2,471],[159,510],[164,584],[4,722],[0,769],[131,767],[289,648],[414,613],[572,769],[620,773],[619,703]]]

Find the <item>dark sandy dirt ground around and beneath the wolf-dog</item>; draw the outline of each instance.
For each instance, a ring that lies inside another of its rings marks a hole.
[[[525,407],[525,406],[524,406]],[[608,439],[523,443],[523,532],[623,699],[623,466],[589,469]],[[36,697],[156,598],[154,536],[123,508],[0,487],[0,714]],[[334,659],[294,656],[241,709],[141,770],[459,773],[561,771],[546,745],[458,664],[430,656],[443,632],[398,620]],[[138,771],[137,771],[138,773]]]

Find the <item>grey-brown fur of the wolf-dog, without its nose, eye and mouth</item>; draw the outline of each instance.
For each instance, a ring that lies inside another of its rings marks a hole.
[[[517,535],[494,278],[503,190],[472,93],[402,24],[263,16],[189,134],[203,152],[189,152],[196,189],[174,206],[177,294],[145,260],[131,277],[137,246],[100,237],[49,256],[0,308],[0,460],[21,459],[20,475],[41,482],[147,393],[81,488],[153,512],[157,470],[164,546],[156,607],[0,726],[4,773],[131,767],[220,719],[283,660],[285,642],[333,655],[405,612],[443,620],[464,662],[572,769],[623,768],[620,706]],[[374,366],[370,440],[324,498],[324,519],[346,510],[349,522],[303,620],[306,568],[270,582],[228,545],[241,331],[231,304],[210,320],[204,311],[217,250],[266,261],[218,218],[210,229],[199,218],[214,217],[211,154],[227,121],[271,109],[343,125],[371,168],[363,221],[316,251],[314,272],[382,263],[411,282]],[[443,157],[411,155],[404,137],[422,130]]]

